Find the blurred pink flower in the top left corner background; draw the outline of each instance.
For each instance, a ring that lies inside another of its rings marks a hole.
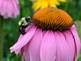
[[[0,0],[0,15],[5,18],[16,17],[19,15],[19,1]]]

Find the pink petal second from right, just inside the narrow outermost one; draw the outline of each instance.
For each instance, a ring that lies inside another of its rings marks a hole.
[[[74,38],[72,36],[72,33],[68,30],[66,32],[63,32],[63,35],[65,37],[66,43],[68,44],[68,47],[70,49],[70,55],[69,58],[71,61],[73,61],[75,59],[75,42],[74,42]]]

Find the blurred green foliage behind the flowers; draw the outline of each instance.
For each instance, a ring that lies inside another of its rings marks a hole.
[[[58,6],[66,10],[77,25],[77,31],[81,38],[81,0],[67,0]],[[0,16],[0,61],[21,61],[20,56],[11,54],[9,51],[19,37],[18,21],[23,16],[33,14],[32,2],[30,0],[20,0],[20,15],[13,19],[4,19]],[[78,58],[81,61],[81,55]]]

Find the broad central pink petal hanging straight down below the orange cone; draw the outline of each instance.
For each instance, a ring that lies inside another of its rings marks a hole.
[[[56,61],[56,42],[52,31],[47,31],[43,37],[40,59],[41,61]]]

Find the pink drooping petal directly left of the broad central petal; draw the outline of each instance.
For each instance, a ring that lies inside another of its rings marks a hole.
[[[29,44],[30,61],[40,61],[40,46],[42,42],[42,30],[37,29]],[[27,59],[25,58],[27,61]]]

